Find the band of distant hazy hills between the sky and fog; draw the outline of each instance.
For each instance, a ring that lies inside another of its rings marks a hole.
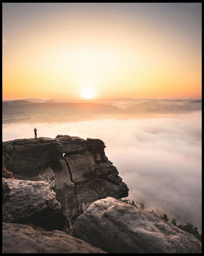
[[[96,100],[24,99],[2,102],[2,122],[117,120],[201,110],[202,100],[113,98]]]

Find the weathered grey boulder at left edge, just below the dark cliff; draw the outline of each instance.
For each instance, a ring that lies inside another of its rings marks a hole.
[[[49,182],[2,178],[2,221],[62,229],[65,218]]]

